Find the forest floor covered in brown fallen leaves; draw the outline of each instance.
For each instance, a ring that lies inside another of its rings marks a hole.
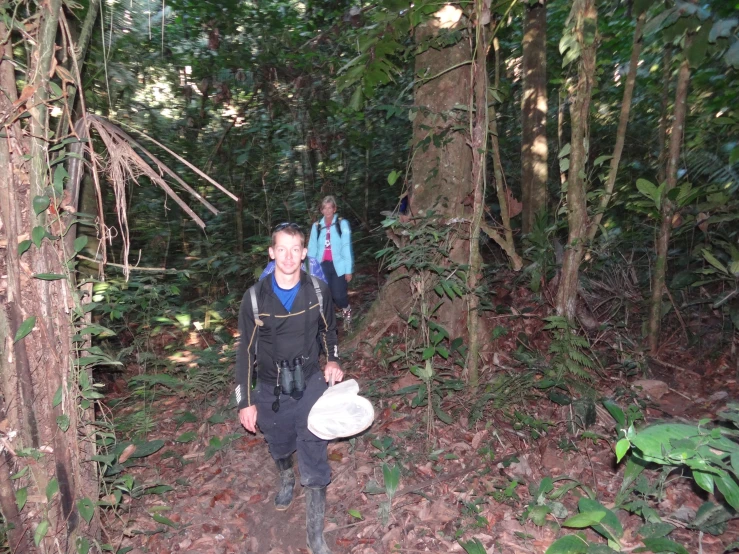
[[[373,292],[367,290],[362,296],[364,302],[355,305],[366,306]],[[534,319],[521,318],[520,331],[535,334],[535,329],[526,328]],[[515,337],[516,332],[510,335]],[[400,338],[396,334],[393,340],[397,343]],[[514,342],[495,344],[499,354],[495,372],[515,371],[504,367],[510,360],[507,348],[515,348]],[[735,371],[725,356],[683,350],[678,342],[674,339],[671,348],[665,349],[669,355],[661,363],[648,366],[649,379],[658,383],[647,383],[642,389],[633,383],[644,378],[643,372],[607,373],[599,393],[611,397],[620,391],[622,398],[639,403],[647,422],[714,418],[727,402],[739,398]],[[191,363],[197,363],[197,347],[190,349],[195,355]],[[474,399],[455,392],[442,404],[455,420],[445,424],[436,419],[428,434],[426,408],[411,408],[415,393],[397,393],[418,384],[418,379],[407,370],[394,369],[382,359],[381,351],[373,350],[350,353],[345,370],[372,399],[375,422],[361,437],[329,444],[333,480],[328,489],[326,538],[334,554],[464,552],[459,541],[473,538],[488,554],[544,553],[558,537],[573,532],[562,529],[551,514],[542,526],[530,519],[522,521],[521,514],[536,503],[537,489],[546,477],[558,485],[569,480],[589,487],[604,506],[613,506],[624,468],[615,461],[616,429],[605,410],[597,410],[588,433],[583,435],[582,429],[572,433],[565,424],[568,408],[542,396],[522,394],[515,405],[486,410],[470,423]],[[493,353],[488,354],[493,360]],[[493,370],[488,371],[484,377],[492,377]],[[300,485],[292,506],[277,512],[272,504],[277,472],[266,444],[261,435],[243,430],[227,404],[227,391],[215,398],[162,395],[150,403],[148,437],[163,439],[166,445],[141,458],[131,472],[138,484],[168,487],[158,489],[166,491],[160,494],[127,500],[106,522],[111,540],[132,554],[308,552]],[[128,403],[116,417],[140,409],[139,404]],[[516,418],[516,412],[530,417]],[[391,504],[382,485],[384,463],[402,468]],[[577,513],[583,490],[573,488],[559,499],[570,516]],[[739,539],[736,520],[719,536],[683,528],[705,500],[707,495],[692,479],[676,473],[659,500],[650,498],[653,507],[676,526],[669,538],[691,554],[721,553]],[[638,549],[643,520],[623,510],[617,514],[624,528],[623,551]],[[585,534],[593,542],[605,543],[591,529]]]

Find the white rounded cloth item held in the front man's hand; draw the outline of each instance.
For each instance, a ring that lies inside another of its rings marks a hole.
[[[308,430],[319,439],[332,440],[367,429],[375,419],[375,410],[358,393],[359,385],[354,379],[329,387],[308,414]]]

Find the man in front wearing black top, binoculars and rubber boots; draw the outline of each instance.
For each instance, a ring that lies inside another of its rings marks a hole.
[[[278,510],[286,510],[293,500],[292,454],[297,450],[300,483],[306,488],[308,548],[313,554],[331,554],[323,538],[326,486],[331,480],[328,442],[311,433],[307,421],[326,383],[341,381],[344,373],[338,363],[331,294],[325,283],[301,271],[306,254],[305,235],[298,225],[275,228],[269,248],[275,270],[241,301],[236,401],[241,424],[250,433],[259,426],[277,464]],[[321,350],[327,357],[323,375]],[[255,369],[258,378],[252,390]]]

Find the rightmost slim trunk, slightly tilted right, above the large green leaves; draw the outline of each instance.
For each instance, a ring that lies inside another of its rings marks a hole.
[[[677,169],[680,163],[680,143],[683,139],[685,116],[687,114],[688,84],[690,82],[690,66],[683,60],[677,74],[675,90],[675,110],[670,132],[670,146],[667,155],[667,171],[665,188],[662,193],[659,235],[657,236],[657,260],[652,275],[652,301],[649,311],[649,353],[654,356],[659,347],[659,331],[662,321],[662,295],[665,290],[665,273],[667,271],[667,249],[672,231],[672,214],[674,205],[669,193],[677,185]]]

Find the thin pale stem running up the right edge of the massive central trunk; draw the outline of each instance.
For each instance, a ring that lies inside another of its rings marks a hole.
[[[480,255],[480,223],[485,211],[485,160],[487,158],[488,135],[488,71],[487,71],[487,38],[486,21],[490,20],[490,4],[485,0],[476,0],[475,13],[477,25],[475,27],[475,51],[472,60],[472,91],[469,105],[475,106],[474,115],[470,112],[471,121],[470,147],[472,149],[472,183],[473,214],[470,229],[470,270],[467,273],[467,288],[469,289],[469,313],[467,314],[467,334],[469,349],[467,351],[467,384],[472,390],[477,390],[479,384],[478,362],[480,354],[480,314],[478,306],[480,299],[477,296],[477,287],[480,281],[482,256]]]

